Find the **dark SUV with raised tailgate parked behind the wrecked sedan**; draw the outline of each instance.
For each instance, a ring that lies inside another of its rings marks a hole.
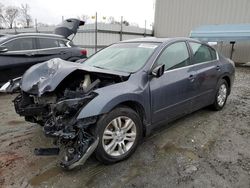
[[[21,76],[34,64],[52,58],[77,61],[86,58],[87,51],[68,39],[83,21],[67,19],[55,29],[55,34],[26,33],[0,37],[0,85]]]

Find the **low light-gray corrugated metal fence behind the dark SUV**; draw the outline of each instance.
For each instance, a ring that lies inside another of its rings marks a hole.
[[[53,33],[55,27],[39,27],[37,28],[22,28],[22,29],[4,29],[1,33]],[[98,50],[108,46],[112,43],[120,41],[121,26],[119,24],[104,24],[97,25],[97,47]],[[122,27],[122,40],[141,38],[144,36],[151,36],[152,30],[145,30],[144,28],[125,26]],[[73,42],[76,45],[82,46],[88,50],[88,55],[95,53],[95,24],[86,24],[78,29]]]

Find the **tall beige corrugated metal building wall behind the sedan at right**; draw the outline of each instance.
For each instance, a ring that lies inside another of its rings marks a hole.
[[[200,25],[239,23],[250,23],[250,0],[156,0],[156,37],[189,36]],[[229,44],[222,53],[229,57]],[[233,60],[250,61],[250,41],[235,44]]]

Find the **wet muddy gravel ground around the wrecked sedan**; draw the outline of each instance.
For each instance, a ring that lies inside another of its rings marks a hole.
[[[103,165],[90,158],[64,171],[41,127],[20,118],[14,95],[0,96],[0,187],[250,187],[250,68],[237,68],[222,111],[207,108],[155,131],[126,161]]]

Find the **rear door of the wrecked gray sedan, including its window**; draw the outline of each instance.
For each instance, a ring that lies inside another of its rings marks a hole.
[[[189,45],[193,54],[192,70],[197,73],[192,108],[197,110],[214,100],[214,91],[220,75],[220,62],[217,52],[211,47],[198,42],[189,42]]]

